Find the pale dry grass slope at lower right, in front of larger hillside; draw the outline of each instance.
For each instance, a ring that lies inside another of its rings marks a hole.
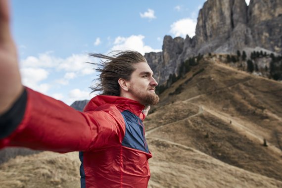
[[[157,159],[150,160],[148,188],[282,188],[282,182],[227,165],[179,143],[148,138]]]

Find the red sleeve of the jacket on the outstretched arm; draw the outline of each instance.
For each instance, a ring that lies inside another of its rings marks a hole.
[[[79,112],[65,103],[29,88],[23,119],[0,148],[23,146],[55,152],[87,151],[120,144],[125,124],[114,105]]]

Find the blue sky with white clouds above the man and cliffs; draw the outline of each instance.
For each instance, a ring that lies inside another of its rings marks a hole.
[[[62,100],[95,96],[88,53],[161,51],[165,35],[193,37],[206,0],[11,0],[11,30],[25,86]],[[248,4],[249,2],[246,3]]]

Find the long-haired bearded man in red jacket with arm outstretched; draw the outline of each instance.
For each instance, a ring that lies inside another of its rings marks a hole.
[[[103,95],[82,113],[22,86],[7,0],[0,0],[0,28],[0,148],[80,151],[82,188],[146,188],[152,155],[143,111],[159,98],[145,58],[135,51],[91,54],[106,59],[97,69],[100,84],[93,88]]]

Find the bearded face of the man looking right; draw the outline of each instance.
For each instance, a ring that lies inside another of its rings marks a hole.
[[[137,63],[134,65],[136,70],[131,75],[129,93],[134,100],[139,101],[143,105],[154,105],[159,101],[158,95],[155,93],[155,87],[158,85],[153,78],[153,71],[148,63]]]

